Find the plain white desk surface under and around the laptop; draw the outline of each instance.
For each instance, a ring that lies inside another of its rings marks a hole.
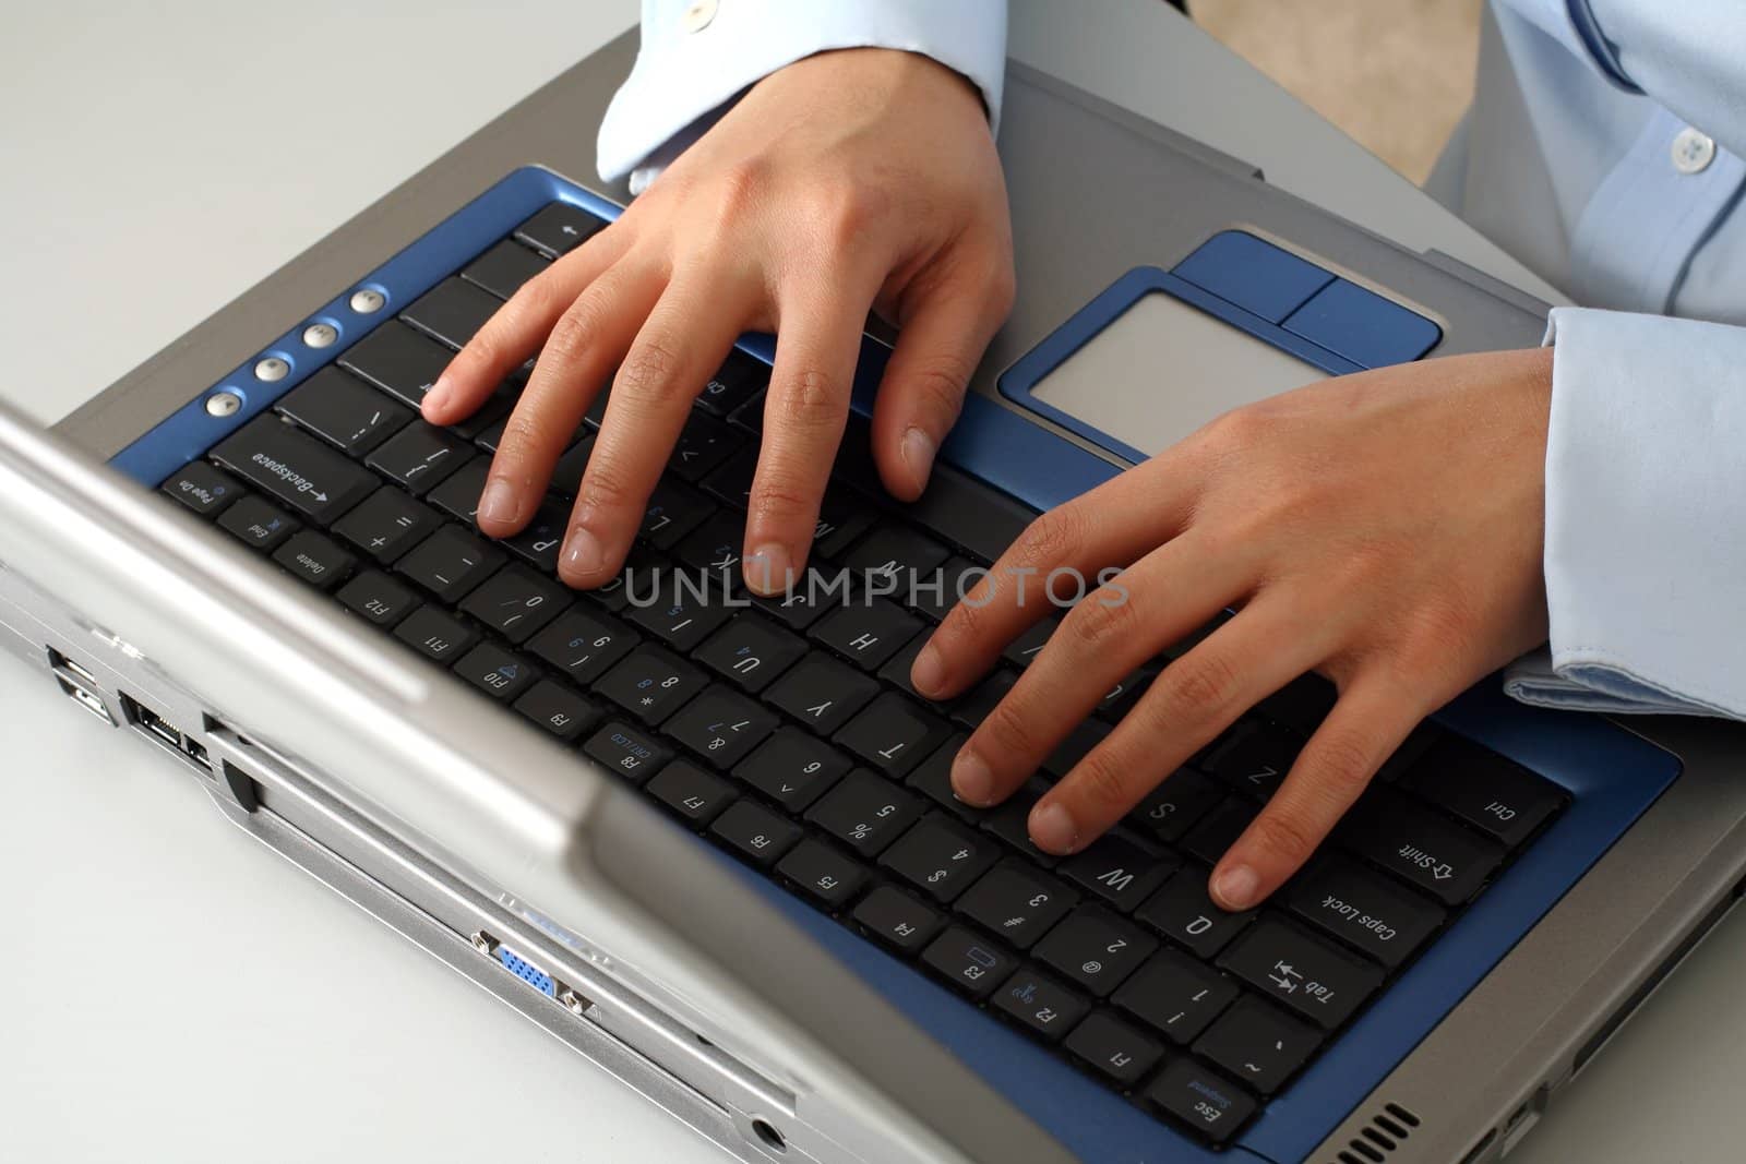
[[[1547,293],[1156,0],[1103,3],[1096,28],[1070,7],[1018,0],[1014,54]],[[58,419],[634,19],[634,0],[19,7],[0,393]],[[23,887],[0,960],[9,1159],[719,1159],[10,663],[0,740],[0,878]],[[1739,1143],[1743,953],[1723,927],[1516,1159]]]

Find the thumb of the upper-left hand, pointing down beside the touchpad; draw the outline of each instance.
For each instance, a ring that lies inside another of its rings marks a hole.
[[[1009,284],[1011,267],[1006,281],[945,279],[899,321],[897,346],[873,403],[873,457],[896,497],[913,501],[927,489],[971,375],[1011,309]]]

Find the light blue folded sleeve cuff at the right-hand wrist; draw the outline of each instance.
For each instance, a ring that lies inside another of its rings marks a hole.
[[[1746,719],[1746,328],[1552,312],[1549,653],[1528,703]]]

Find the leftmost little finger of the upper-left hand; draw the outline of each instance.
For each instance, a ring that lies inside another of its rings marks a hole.
[[[583,288],[618,262],[629,243],[629,232],[608,227],[524,283],[424,393],[424,419],[454,424],[471,415],[540,351]]]

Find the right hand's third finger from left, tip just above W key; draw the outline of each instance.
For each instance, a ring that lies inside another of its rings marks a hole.
[[[1121,820],[1238,716],[1329,654],[1294,602],[1262,595],[1165,668],[1116,729],[1030,810],[1030,838],[1072,853]]]

